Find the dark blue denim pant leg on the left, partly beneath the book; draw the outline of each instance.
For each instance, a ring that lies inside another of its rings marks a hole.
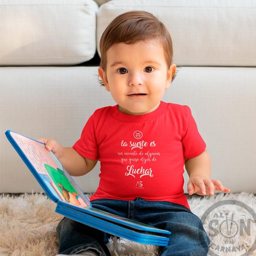
[[[127,201],[98,199],[91,203],[94,208],[124,217],[127,215],[125,213]],[[124,209],[123,212],[122,209]],[[59,237],[59,253],[77,254],[88,249],[94,249],[101,256],[110,256],[106,246],[110,234],[66,217],[60,221],[56,230]]]

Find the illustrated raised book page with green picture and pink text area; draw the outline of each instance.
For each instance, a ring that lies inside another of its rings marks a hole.
[[[64,167],[52,151],[46,150],[43,143],[12,131],[10,135],[34,167],[38,177],[55,197],[75,206],[90,206],[89,199],[77,185],[72,185],[75,181],[66,170],[63,170]]]

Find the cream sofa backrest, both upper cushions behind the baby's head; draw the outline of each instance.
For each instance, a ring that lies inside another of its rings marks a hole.
[[[180,66],[256,66],[256,2],[2,0],[0,65],[77,65],[93,59],[106,26],[131,10],[152,12]],[[102,4],[103,3],[103,4]],[[97,46],[97,47],[96,47]]]

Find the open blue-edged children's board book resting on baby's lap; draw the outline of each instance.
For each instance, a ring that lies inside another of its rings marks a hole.
[[[113,236],[142,244],[168,244],[170,231],[123,218],[92,207],[88,197],[45,144],[14,131],[5,135],[37,179],[46,195],[57,203],[56,212]]]

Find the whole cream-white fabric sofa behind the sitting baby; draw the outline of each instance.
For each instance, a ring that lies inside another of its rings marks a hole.
[[[211,178],[231,192],[256,193],[253,0],[0,0],[0,193],[42,191],[7,129],[68,147],[95,109],[116,105],[97,81],[99,39],[130,10],[152,12],[170,31],[181,69],[163,101],[191,108]],[[84,192],[95,192],[99,170],[98,162],[75,177]],[[186,171],[184,180],[187,192]]]

